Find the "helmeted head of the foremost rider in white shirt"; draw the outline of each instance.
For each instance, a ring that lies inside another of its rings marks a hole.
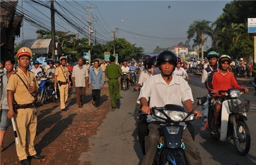
[[[177,66],[177,56],[169,50],[164,50],[156,58],[163,77],[170,77]]]

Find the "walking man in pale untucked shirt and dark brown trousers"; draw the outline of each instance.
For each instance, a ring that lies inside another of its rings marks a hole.
[[[76,90],[76,103],[79,108],[82,108],[82,101],[85,98],[86,84],[88,84],[88,71],[83,65],[84,59],[78,58],[78,64],[73,67],[73,88]]]

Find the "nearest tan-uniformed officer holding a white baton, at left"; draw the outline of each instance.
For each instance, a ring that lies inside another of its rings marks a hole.
[[[19,68],[15,74],[10,75],[7,84],[7,101],[9,119],[14,117],[19,143],[16,145],[16,153],[22,164],[30,164],[28,158],[42,159],[43,155],[36,153],[34,139],[36,136],[36,109],[34,94],[38,90],[38,83],[34,73],[28,71],[28,65],[32,57],[29,48],[22,47],[16,54]],[[14,112],[16,115],[14,115]]]

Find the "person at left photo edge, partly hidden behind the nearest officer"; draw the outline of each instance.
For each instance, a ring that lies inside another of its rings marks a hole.
[[[8,102],[7,102],[7,82],[12,73],[14,73],[13,67],[15,61],[13,59],[6,59],[5,61],[6,73],[3,74],[3,86],[1,87],[0,95],[0,151],[3,151],[3,139],[5,137],[5,132],[10,126],[11,120],[7,117],[9,111]]]

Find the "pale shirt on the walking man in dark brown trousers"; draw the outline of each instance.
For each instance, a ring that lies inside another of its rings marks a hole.
[[[75,77],[75,87],[86,87],[85,77],[89,77],[86,66],[83,65],[80,69],[79,65],[75,65],[73,67],[72,77]]]

